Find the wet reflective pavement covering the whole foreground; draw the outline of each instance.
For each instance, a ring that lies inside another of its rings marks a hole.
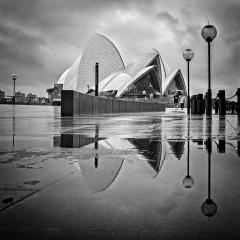
[[[240,120],[0,105],[1,239],[238,239]]]

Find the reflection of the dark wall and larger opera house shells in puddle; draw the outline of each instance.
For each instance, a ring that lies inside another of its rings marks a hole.
[[[79,159],[79,167],[86,185],[94,193],[105,191],[114,182],[123,165],[123,158],[106,154],[109,150],[112,152],[113,149],[127,150],[137,148],[139,153],[145,156],[147,163],[157,173],[161,170],[164,161],[161,158],[162,142],[160,140],[103,139],[99,138],[98,132],[96,132],[95,137],[64,133],[61,136],[55,136],[53,141],[54,147],[63,148],[80,148],[92,144],[93,149],[89,152],[93,156],[84,160]],[[104,154],[101,155],[101,151],[96,151],[97,149],[103,150]]]

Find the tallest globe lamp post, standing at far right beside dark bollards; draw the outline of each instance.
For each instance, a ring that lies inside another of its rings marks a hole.
[[[212,115],[212,91],[211,91],[211,42],[217,36],[217,29],[213,25],[206,25],[201,31],[202,38],[208,44],[208,91],[207,91],[207,104],[206,104],[206,115]]]

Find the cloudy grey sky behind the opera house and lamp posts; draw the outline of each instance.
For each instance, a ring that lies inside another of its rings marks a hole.
[[[170,69],[186,76],[191,48],[191,93],[207,90],[207,44],[201,29],[210,22],[213,94],[240,87],[239,0],[0,0],[0,89],[47,96],[61,73],[81,54],[93,33],[106,35],[125,64],[156,48]]]

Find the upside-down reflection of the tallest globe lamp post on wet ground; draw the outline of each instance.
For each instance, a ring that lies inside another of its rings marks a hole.
[[[207,217],[213,217],[217,213],[217,204],[211,199],[211,153],[212,141],[211,138],[206,140],[208,150],[208,197],[201,206],[202,213]]]

